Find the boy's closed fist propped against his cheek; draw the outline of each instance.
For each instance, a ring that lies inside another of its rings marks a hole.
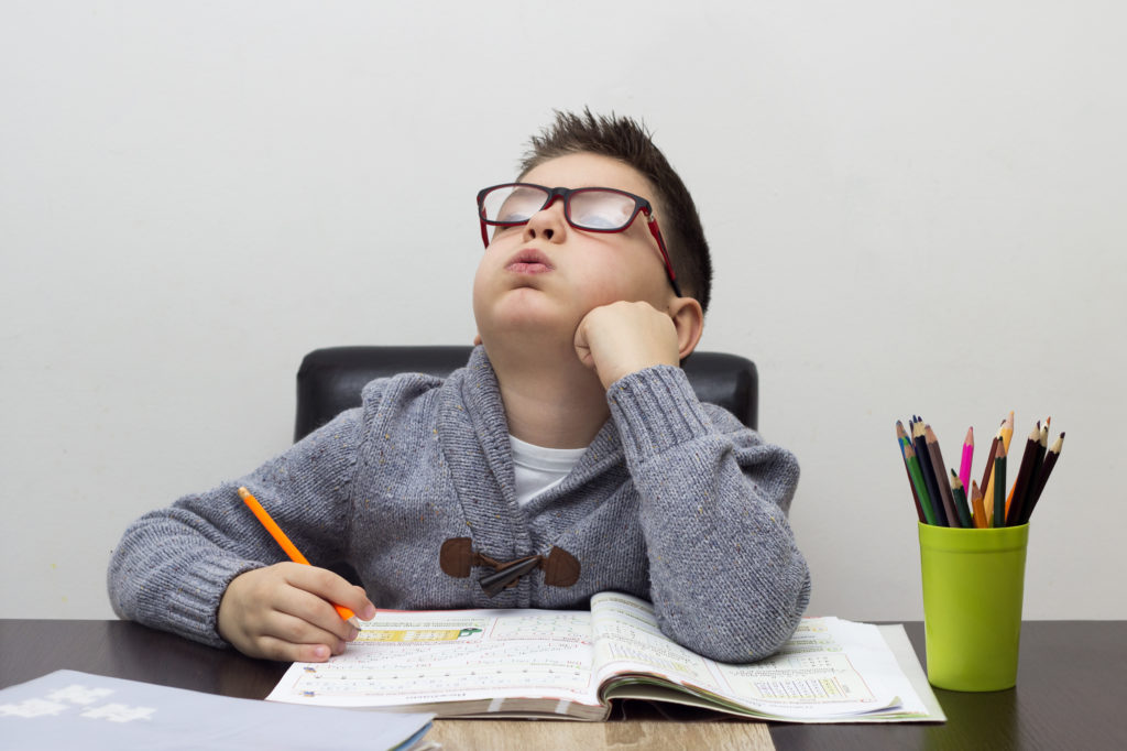
[[[648,302],[612,302],[579,321],[575,351],[598,374],[603,388],[650,365],[678,365],[673,319]]]

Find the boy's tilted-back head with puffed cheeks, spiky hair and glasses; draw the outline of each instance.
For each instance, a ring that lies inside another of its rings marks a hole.
[[[708,247],[692,198],[638,124],[558,114],[532,140],[518,183],[482,189],[478,206],[476,341],[495,365],[503,351],[574,357],[582,321],[619,301],[669,315],[682,359],[695,346]]]

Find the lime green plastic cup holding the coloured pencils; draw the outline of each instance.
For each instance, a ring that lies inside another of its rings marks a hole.
[[[952,691],[1018,682],[1029,524],[953,529],[920,524],[928,680]]]

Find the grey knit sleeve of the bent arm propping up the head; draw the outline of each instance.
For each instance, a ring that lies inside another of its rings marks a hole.
[[[662,629],[722,662],[751,662],[793,634],[810,575],[787,512],[798,462],[713,405],[680,368],[607,391],[641,496],[650,594]]]

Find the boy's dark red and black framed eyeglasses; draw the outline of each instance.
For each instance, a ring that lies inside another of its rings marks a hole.
[[[665,275],[673,291],[681,294],[669,254],[657,227],[654,207],[649,201],[615,188],[550,188],[532,183],[505,183],[478,192],[478,219],[481,220],[481,241],[489,247],[488,227],[517,227],[529,223],[532,215],[550,206],[557,197],[564,200],[564,217],[571,227],[585,232],[622,232],[641,212],[646,226],[662,251]]]

